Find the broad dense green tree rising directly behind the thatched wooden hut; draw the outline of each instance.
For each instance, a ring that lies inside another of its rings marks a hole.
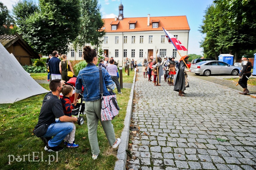
[[[22,25],[19,33],[43,55],[54,50],[68,52],[69,44],[78,35],[79,0],[39,0],[38,7],[23,0],[16,3],[13,13]]]

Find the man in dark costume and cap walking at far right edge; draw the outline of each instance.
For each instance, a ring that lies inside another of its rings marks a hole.
[[[252,63],[248,59],[248,55],[243,55],[242,56],[242,71],[239,74],[239,81],[238,84],[243,87],[243,92],[240,94],[246,95],[249,93],[249,90],[247,89],[247,81],[249,77],[252,75],[251,73],[252,70]]]

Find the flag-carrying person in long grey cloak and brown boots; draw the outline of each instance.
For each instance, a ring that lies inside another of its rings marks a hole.
[[[187,59],[190,56],[184,55],[182,58],[184,59],[185,62],[187,62]],[[186,90],[186,87],[189,87],[188,80],[187,79],[187,71],[190,71],[186,69],[186,64],[184,61],[180,59],[180,64],[178,66],[178,70],[176,73],[175,81],[174,81],[174,91],[179,92],[179,96],[184,96],[184,90]]]

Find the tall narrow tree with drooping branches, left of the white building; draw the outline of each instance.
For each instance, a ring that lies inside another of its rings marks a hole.
[[[73,42],[75,49],[86,43],[98,46],[102,42],[105,32],[102,30],[104,22],[101,19],[100,5],[98,0],[81,0],[81,26],[79,35]]]

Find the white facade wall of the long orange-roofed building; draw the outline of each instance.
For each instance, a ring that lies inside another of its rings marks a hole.
[[[177,35],[178,40],[187,48],[188,47],[188,35],[189,30],[177,30],[169,31],[172,35]],[[108,57],[113,57],[119,66],[122,66],[124,56],[124,50],[127,50],[127,57],[129,59],[134,59],[137,63],[143,61],[143,58],[149,57],[149,50],[153,50],[153,56],[156,56],[156,48],[160,54],[160,49],[162,51],[166,50],[166,56],[173,55],[173,50],[175,49],[172,44],[169,44],[167,38],[164,36],[164,42],[161,42],[161,35],[165,35],[163,31],[138,31],[138,32],[116,32],[116,33],[106,33],[107,44],[104,41],[101,44],[102,50],[108,50]],[[127,36],[127,43],[124,43],[124,36]],[[132,43],[132,36],[135,36],[135,43]],[[143,43],[140,42],[140,36],[143,36]],[[152,36],[152,43],[149,42],[149,36]],[[115,38],[118,37],[118,43],[116,43]],[[89,45],[89,44],[87,44]],[[71,46],[70,46],[71,47]],[[71,48],[72,49],[72,48]],[[74,49],[72,49],[74,50]],[[67,54],[68,60],[81,60],[79,57],[78,50],[75,52],[75,57],[71,57],[71,52]],[[82,48],[81,48],[82,50]],[[118,57],[116,57],[116,50],[118,50]],[[135,56],[132,57],[132,50],[135,51]],[[140,56],[140,50],[143,50],[143,56]],[[181,56],[187,55],[187,51],[179,51]],[[162,53],[163,54],[163,53]],[[180,58],[178,52],[176,52],[176,60]]]

